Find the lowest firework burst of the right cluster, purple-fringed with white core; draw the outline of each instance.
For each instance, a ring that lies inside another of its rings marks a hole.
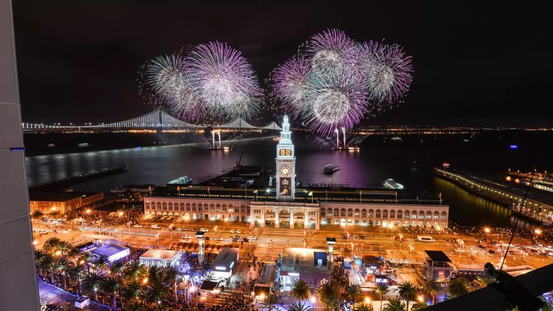
[[[363,119],[367,93],[356,75],[318,80],[304,115],[307,126],[318,133],[331,133],[336,128],[353,128]]]

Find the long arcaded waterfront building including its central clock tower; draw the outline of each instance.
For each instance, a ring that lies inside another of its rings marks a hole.
[[[295,164],[290,123],[284,116],[276,146],[275,185],[248,185],[255,177],[268,181],[268,174],[259,167],[238,165],[210,180],[210,185],[158,186],[144,196],[144,214],[316,230],[321,224],[447,226],[449,206],[437,196],[394,189],[296,188]]]

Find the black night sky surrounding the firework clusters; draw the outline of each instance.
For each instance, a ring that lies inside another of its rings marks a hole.
[[[300,43],[338,28],[354,40],[400,44],[413,56],[405,102],[365,124],[553,126],[550,17],[530,2],[13,2],[25,122],[147,113],[152,107],[135,82],[140,66],[209,41],[241,50],[262,80]]]

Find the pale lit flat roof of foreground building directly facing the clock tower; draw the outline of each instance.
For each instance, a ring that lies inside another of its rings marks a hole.
[[[280,271],[330,273],[326,265],[315,266],[314,248],[285,247]]]

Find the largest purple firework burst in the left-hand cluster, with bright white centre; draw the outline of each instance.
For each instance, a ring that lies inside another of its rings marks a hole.
[[[188,59],[192,84],[208,113],[251,118],[262,95],[251,65],[225,43],[201,44]]]

